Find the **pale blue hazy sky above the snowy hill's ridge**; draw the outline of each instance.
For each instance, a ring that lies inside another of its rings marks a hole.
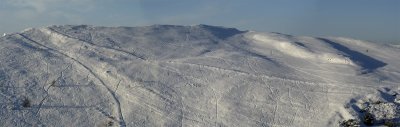
[[[62,24],[208,24],[400,43],[400,0],[0,0],[0,32]]]

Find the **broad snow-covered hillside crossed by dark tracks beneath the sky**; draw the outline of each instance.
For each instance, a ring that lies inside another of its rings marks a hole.
[[[208,25],[32,28],[0,38],[0,125],[339,126],[365,105],[396,122],[399,52]]]

